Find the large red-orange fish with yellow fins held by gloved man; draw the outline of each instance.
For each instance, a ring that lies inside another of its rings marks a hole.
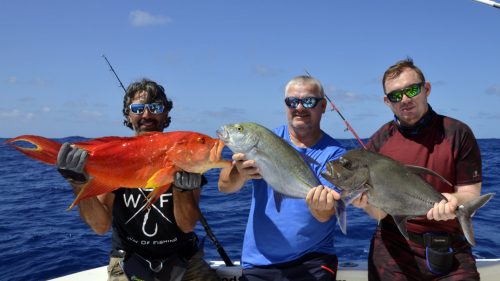
[[[27,156],[55,165],[61,143],[33,135],[7,141],[25,141],[34,148],[15,149]],[[225,168],[231,162],[221,160],[224,143],[219,139],[188,131],[147,133],[136,137],[103,137],[78,142],[76,147],[88,151],[85,171],[90,180],[69,207],[80,200],[111,192],[117,188],[153,188],[148,206],[153,204],[174,182],[177,171],[204,173],[212,168]]]

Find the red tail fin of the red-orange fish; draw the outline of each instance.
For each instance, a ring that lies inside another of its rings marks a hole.
[[[14,144],[14,142],[27,142],[35,147],[23,147]],[[22,135],[13,139],[7,140],[6,143],[11,144],[15,149],[19,150],[26,156],[38,161],[55,165],[57,154],[61,148],[61,143],[40,136]]]

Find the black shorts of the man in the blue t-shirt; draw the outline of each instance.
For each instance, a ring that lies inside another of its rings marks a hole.
[[[336,255],[311,253],[283,264],[243,269],[243,280],[334,281],[337,266]]]

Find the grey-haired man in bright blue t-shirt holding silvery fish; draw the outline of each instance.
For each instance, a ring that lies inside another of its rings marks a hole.
[[[293,78],[285,88],[288,124],[274,129],[305,158],[314,159],[308,165],[322,185],[312,188],[306,200],[286,198],[278,213],[271,186],[245,154],[235,153],[232,167],[221,171],[222,192],[236,192],[250,179],[254,185],[241,256],[244,280],[335,280],[334,204],[340,195],[320,173],[345,149],[320,128],[324,96],[317,79]]]

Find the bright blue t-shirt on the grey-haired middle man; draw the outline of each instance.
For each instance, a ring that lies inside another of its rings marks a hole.
[[[314,159],[315,163],[307,163],[313,173],[321,184],[334,187],[320,173],[327,162],[346,152],[338,141],[323,132],[322,138],[314,146],[300,148],[291,142],[286,125],[273,132],[299,153]],[[252,204],[241,255],[243,268],[293,261],[312,252],[335,254],[335,216],[327,222],[319,222],[311,214],[305,199],[288,197],[283,199],[278,212],[273,189],[264,180],[253,180],[253,185]]]

